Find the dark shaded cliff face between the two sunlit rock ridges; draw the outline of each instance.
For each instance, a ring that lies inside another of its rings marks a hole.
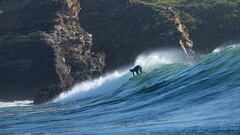
[[[156,48],[180,48],[174,14],[128,0],[80,0],[80,23],[93,34],[93,49],[106,54],[105,71],[133,63]]]

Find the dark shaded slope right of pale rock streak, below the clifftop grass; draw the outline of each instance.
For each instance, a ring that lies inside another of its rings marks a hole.
[[[239,42],[240,4],[176,7],[198,53],[208,53],[225,42]]]

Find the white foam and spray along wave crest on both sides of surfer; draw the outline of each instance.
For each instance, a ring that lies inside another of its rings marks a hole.
[[[143,70],[149,70],[161,64],[170,64],[179,61],[179,52],[161,51],[140,55],[134,65],[141,65]],[[71,90],[60,94],[53,102],[68,102],[85,98],[97,97],[121,87],[131,77],[129,68],[102,76],[98,79],[88,80],[76,84]]]

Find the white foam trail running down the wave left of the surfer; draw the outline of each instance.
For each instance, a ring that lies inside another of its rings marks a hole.
[[[127,72],[115,71],[104,77],[89,80],[75,85],[70,91],[62,93],[54,102],[73,101],[83,98],[96,97],[104,93],[117,89],[129,80],[130,74]]]

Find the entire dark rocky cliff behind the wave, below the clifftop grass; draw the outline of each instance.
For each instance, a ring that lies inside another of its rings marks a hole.
[[[147,50],[209,52],[239,39],[239,6],[0,0],[0,100],[51,100]]]

